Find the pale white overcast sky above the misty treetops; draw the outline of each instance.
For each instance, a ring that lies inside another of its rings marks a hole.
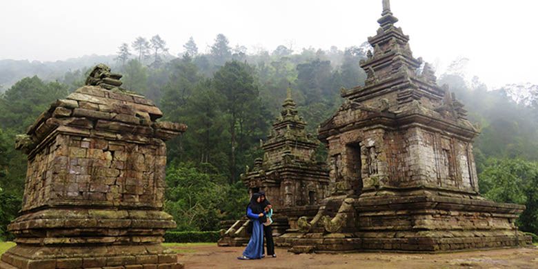
[[[538,84],[535,0],[392,0],[415,57],[443,69],[457,57],[488,86]],[[250,52],[279,44],[359,46],[375,34],[381,0],[17,0],[0,2],[0,59],[55,61],[114,54],[159,34],[172,54],[190,36],[206,51],[223,33]]]

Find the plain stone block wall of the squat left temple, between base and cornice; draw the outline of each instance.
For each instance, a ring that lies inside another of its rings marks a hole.
[[[28,161],[23,211],[54,206],[162,208],[166,145],[58,135]]]

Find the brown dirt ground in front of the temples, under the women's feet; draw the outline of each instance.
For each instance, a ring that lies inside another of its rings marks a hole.
[[[538,247],[442,254],[301,254],[277,249],[277,258],[239,261],[243,248],[174,247],[186,269],[195,268],[538,268]]]

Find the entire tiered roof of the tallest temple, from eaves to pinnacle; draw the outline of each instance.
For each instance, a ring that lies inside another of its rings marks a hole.
[[[390,3],[383,1],[383,13],[378,20],[377,34],[368,37],[373,48],[368,58],[361,60],[361,68],[368,75],[364,86],[341,90],[346,99],[337,114],[354,108],[383,121],[404,119],[410,121],[435,121],[439,128],[451,128],[453,132],[472,139],[478,135],[466,119],[467,111],[450,93],[448,86],[438,86],[435,72],[421,58],[413,57],[409,37],[395,26],[398,19],[390,10]],[[337,114],[321,124],[319,138],[323,141],[339,126]],[[355,123],[355,125],[360,123]]]

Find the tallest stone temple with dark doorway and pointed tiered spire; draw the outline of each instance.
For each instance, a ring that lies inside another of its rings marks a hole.
[[[319,130],[334,191],[277,245],[437,252],[528,242],[515,226],[524,206],[479,195],[478,132],[428,63],[413,57],[397,21],[383,0],[381,27],[368,38],[373,52],[361,62],[366,85],[343,90],[345,102]]]

